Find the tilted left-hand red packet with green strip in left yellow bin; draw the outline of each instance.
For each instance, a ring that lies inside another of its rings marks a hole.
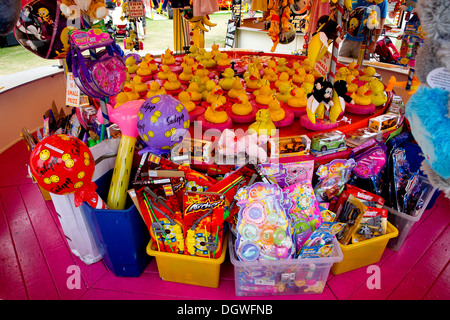
[[[183,218],[174,189],[182,178],[160,178],[135,188],[139,208],[158,251],[183,253]]]

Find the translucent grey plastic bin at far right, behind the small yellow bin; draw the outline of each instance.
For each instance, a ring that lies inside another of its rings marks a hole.
[[[422,190],[425,190],[423,195],[423,206],[421,209],[415,210],[411,215],[399,212],[393,208],[384,207],[388,210],[388,220],[397,228],[398,236],[392,238],[388,242],[388,248],[394,251],[399,251],[409,234],[414,223],[420,220],[423,212],[427,209],[433,195],[436,192],[436,187],[433,187],[429,180],[423,176],[420,176],[420,184]]]

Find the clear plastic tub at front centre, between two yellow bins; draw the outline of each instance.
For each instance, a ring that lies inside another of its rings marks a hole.
[[[325,288],[330,268],[343,259],[333,240],[331,255],[323,258],[242,261],[236,256],[234,239],[229,241],[237,296],[319,294]]]

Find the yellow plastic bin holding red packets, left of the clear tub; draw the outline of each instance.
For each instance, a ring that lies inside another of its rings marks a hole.
[[[159,277],[164,281],[217,288],[220,267],[227,252],[227,238],[226,234],[222,241],[222,253],[217,259],[158,251],[152,241],[147,245],[147,254],[155,257]]]

